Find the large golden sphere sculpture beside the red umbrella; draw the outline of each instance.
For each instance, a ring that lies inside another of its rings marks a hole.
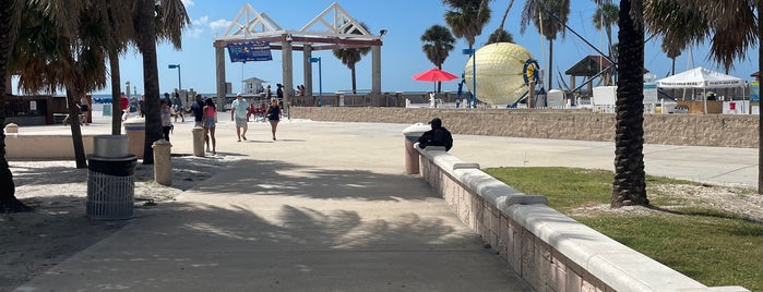
[[[514,104],[527,92],[526,83],[537,83],[539,66],[533,54],[520,45],[496,42],[470,57],[464,68],[466,86],[474,93],[474,59],[477,59],[477,99],[490,105]]]

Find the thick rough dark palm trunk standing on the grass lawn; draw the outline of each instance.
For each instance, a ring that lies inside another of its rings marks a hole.
[[[611,207],[648,205],[644,173],[644,26],[631,19],[631,5],[621,0],[618,21],[618,89],[615,126],[615,180]],[[641,8],[637,11],[642,11]]]

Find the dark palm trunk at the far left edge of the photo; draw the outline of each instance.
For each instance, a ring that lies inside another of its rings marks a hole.
[[[0,0],[0,125],[5,124],[5,99],[10,88],[8,61],[15,42],[16,29],[21,20],[22,0]],[[5,133],[0,126],[0,211],[31,211],[32,208],[21,203],[15,196],[13,173],[5,159]]]

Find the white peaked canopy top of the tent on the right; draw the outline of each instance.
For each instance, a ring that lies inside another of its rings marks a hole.
[[[701,66],[657,81],[660,88],[727,88],[742,87],[744,80]]]

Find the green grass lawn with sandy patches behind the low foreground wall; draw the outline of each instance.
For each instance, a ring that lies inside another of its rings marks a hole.
[[[647,197],[654,208],[586,214],[580,208],[609,204],[611,171],[493,168],[485,172],[526,194],[546,195],[551,208],[708,287],[763,291],[762,222],[655,190],[660,184],[698,183],[647,175]],[[665,205],[670,206],[663,208]]]

